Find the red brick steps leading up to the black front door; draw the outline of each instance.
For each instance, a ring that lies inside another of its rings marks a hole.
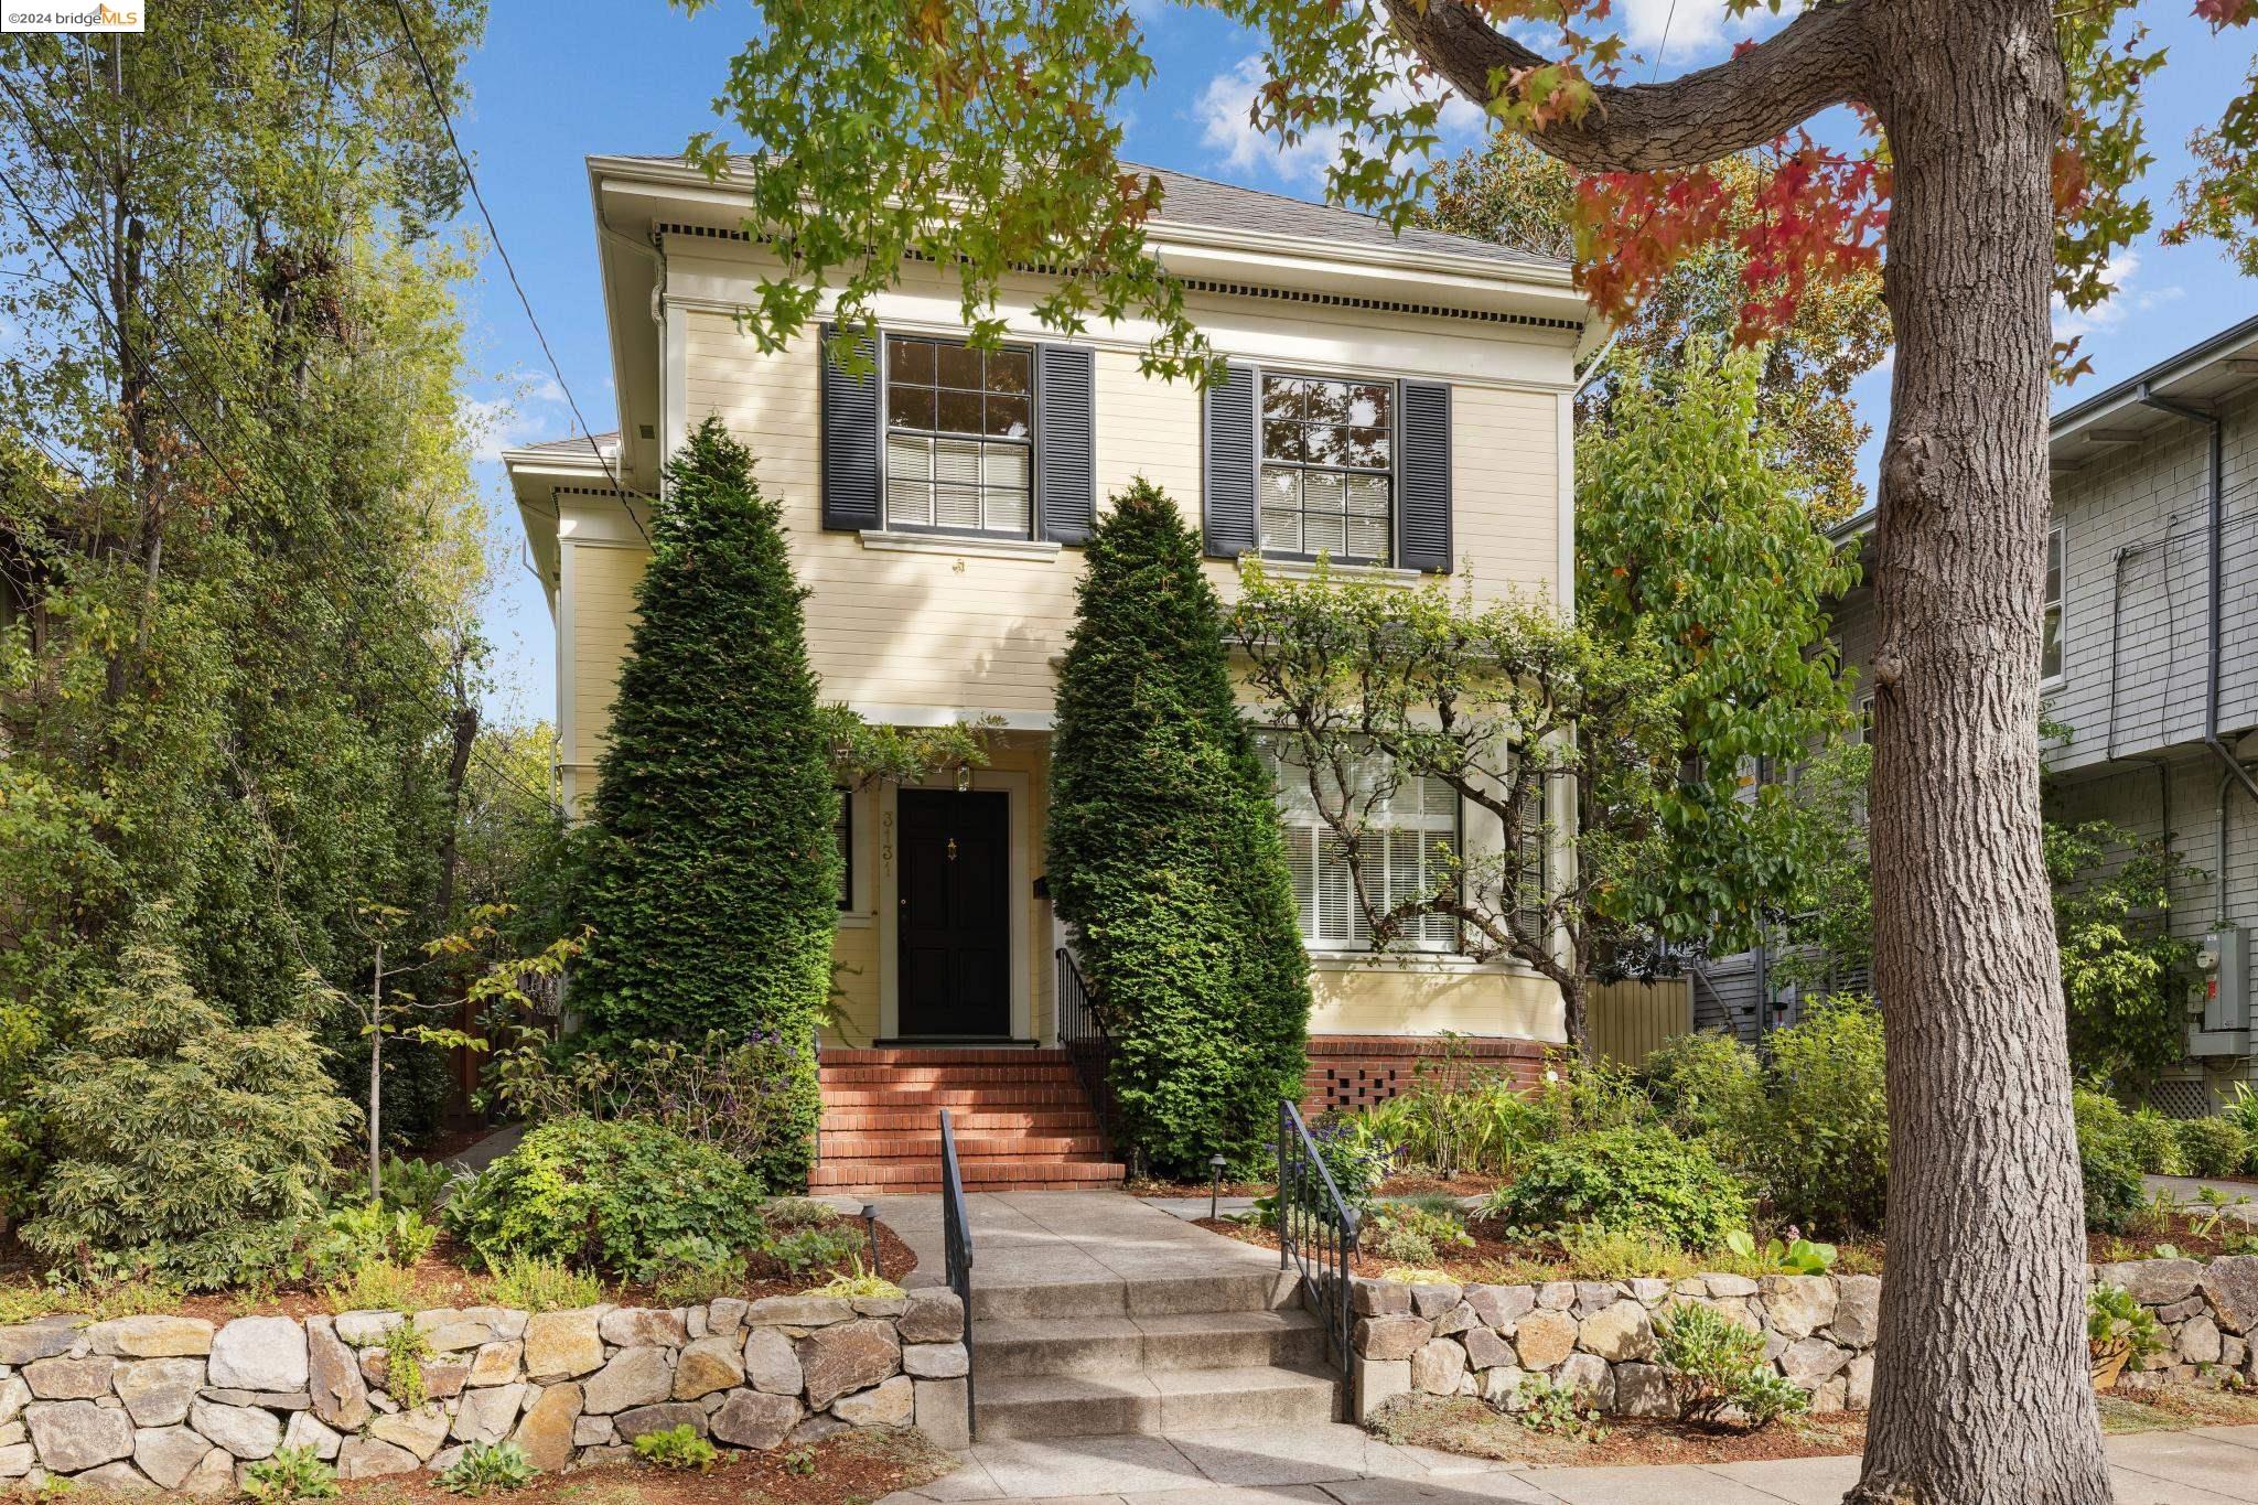
[[[1066,1051],[824,1049],[822,1160],[811,1191],[939,1191],[942,1108],[966,1191],[1122,1185]]]

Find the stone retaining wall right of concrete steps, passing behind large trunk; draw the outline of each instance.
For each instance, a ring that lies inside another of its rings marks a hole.
[[[2093,1268],[2156,1313],[2165,1347],[2123,1388],[2165,1381],[2258,1381],[2258,1255],[2138,1259]],[[1876,1275],[1698,1275],[1691,1279],[1554,1282],[1544,1286],[1404,1286],[1353,1291],[1357,1422],[1407,1394],[1479,1394],[1520,1406],[1524,1374],[1574,1390],[1610,1415],[1671,1415],[1655,1358],[1655,1311],[1703,1302],[1763,1334],[1779,1374],[1813,1410],[1863,1410],[1874,1388]]]

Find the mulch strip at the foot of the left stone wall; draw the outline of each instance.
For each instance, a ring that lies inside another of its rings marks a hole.
[[[914,1431],[851,1431],[806,1449],[723,1453],[704,1473],[623,1462],[542,1476],[488,1496],[510,1505],[869,1505],[930,1485],[955,1460]],[[352,1505],[456,1505],[431,1476],[345,1485]]]

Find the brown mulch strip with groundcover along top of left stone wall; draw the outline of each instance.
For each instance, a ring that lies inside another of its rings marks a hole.
[[[854,1223],[856,1232],[863,1232],[860,1218],[842,1218]],[[854,1255],[863,1259],[863,1270],[869,1270],[869,1239],[856,1243]],[[901,1282],[910,1270],[917,1268],[917,1252],[901,1241],[901,1236],[878,1223],[878,1275],[885,1279]],[[813,1286],[822,1286],[833,1275],[854,1275],[854,1259],[842,1259],[835,1266],[811,1268],[793,1275],[774,1259],[752,1259],[745,1270],[745,1279],[736,1282],[727,1291],[716,1291],[714,1295],[741,1295],[750,1302],[770,1295],[799,1295]],[[483,1306],[495,1302],[492,1279],[467,1268],[461,1259],[461,1250],[449,1236],[431,1248],[431,1252],[413,1270],[415,1295],[406,1306],[415,1311],[429,1311],[434,1306]],[[147,1297],[160,1300],[147,1300]],[[25,1250],[14,1234],[0,1241],[0,1304],[16,1306],[9,1297],[23,1297],[25,1304],[38,1304],[45,1311],[79,1311],[90,1315],[129,1315],[131,1311],[167,1311],[187,1318],[203,1318],[208,1322],[228,1322],[230,1318],[251,1315],[285,1315],[285,1318],[307,1318],[323,1311],[343,1311],[339,1300],[323,1288],[307,1286],[303,1282],[280,1282],[273,1286],[253,1286],[239,1291],[196,1291],[187,1295],[156,1293],[140,1286],[117,1286],[108,1293],[104,1291],[81,1291],[81,1293],[54,1293],[50,1297],[43,1279],[43,1261]],[[90,1297],[90,1300],[88,1300]],[[619,1302],[621,1306],[666,1306],[673,1302],[662,1302],[657,1291],[650,1286],[637,1286],[625,1282],[607,1282],[603,1288],[603,1300]],[[9,1320],[29,1320],[32,1311],[11,1313]]]

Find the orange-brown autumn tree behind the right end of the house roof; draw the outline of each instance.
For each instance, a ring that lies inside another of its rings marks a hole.
[[[1739,230],[1757,219],[1766,167],[1752,153],[1718,162],[1725,217]],[[1524,135],[1499,133],[1465,151],[1436,176],[1434,203],[1418,221],[1538,255],[1576,253],[1578,176]],[[1614,338],[1585,370],[1576,395],[1581,433],[1603,426],[1626,381],[1669,381],[1694,341],[1714,350],[1734,336],[1745,305],[1750,250],[1739,237],[1687,255],[1630,309]],[[1858,449],[1872,429],[1849,399],[1852,384],[1881,366],[1890,350],[1890,314],[1881,307],[1881,271],[1865,262],[1813,278],[1786,323],[1761,343],[1757,422],[1788,463],[1797,492],[1820,521],[1865,508]],[[1578,467],[1587,460],[1578,454]]]

